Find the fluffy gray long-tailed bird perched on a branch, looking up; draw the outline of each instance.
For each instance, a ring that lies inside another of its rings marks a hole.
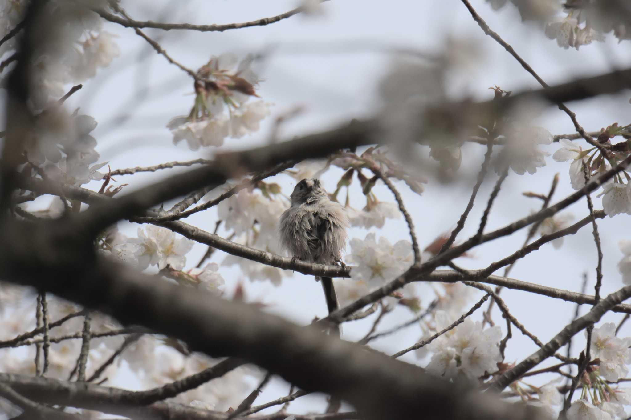
[[[292,207],[280,217],[281,244],[294,258],[308,263],[341,263],[349,225],[344,207],[329,200],[316,178],[305,178],[296,184],[290,198]],[[320,279],[316,276],[315,280]],[[333,279],[322,277],[322,288],[331,314],[338,309]]]

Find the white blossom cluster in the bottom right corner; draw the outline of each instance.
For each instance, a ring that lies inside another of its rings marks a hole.
[[[631,363],[631,337],[621,339],[615,333],[613,322],[594,328],[591,337],[594,362],[587,366],[581,379],[581,398],[572,402],[567,411],[569,420],[628,417],[623,406],[631,404],[631,390],[612,389],[609,383],[628,373],[626,365]]]

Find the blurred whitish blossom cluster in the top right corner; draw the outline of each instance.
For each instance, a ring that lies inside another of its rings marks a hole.
[[[576,48],[593,41],[604,41],[613,31],[618,40],[631,39],[631,25],[625,19],[628,4],[625,0],[510,0],[523,20],[545,23],[545,34],[557,40],[559,47]],[[508,0],[487,0],[493,9],[500,9]]]

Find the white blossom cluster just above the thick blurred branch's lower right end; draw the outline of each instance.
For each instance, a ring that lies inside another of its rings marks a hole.
[[[447,312],[439,310],[435,315],[435,328],[442,331],[453,321]],[[459,326],[427,344],[427,350],[433,353],[427,372],[454,380],[467,378],[472,382],[486,373],[495,373],[497,363],[502,361],[498,347],[500,339],[500,327],[483,329],[481,322],[465,319]]]

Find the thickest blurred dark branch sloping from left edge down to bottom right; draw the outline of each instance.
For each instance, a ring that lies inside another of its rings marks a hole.
[[[435,412],[437,417],[428,418],[441,419],[464,414],[471,419],[535,415],[529,409],[517,411],[483,395],[468,394],[428,377],[420,368],[322,335],[319,328],[299,327],[249,305],[132,273],[112,261],[75,261],[73,273],[53,265],[47,270],[50,275],[42,278],[38,270],[24,270],[25,261],[16,261],[19,253],[0,248],[0,275],[4,278],[101,309],[123,323],[144,325],[182,339],[192,349],[211,356],[245,358],[301,389],[347,400],[368,419],[413,417],[419,411]],[[34,265],[42,267],[42,263],[38,260]]]

